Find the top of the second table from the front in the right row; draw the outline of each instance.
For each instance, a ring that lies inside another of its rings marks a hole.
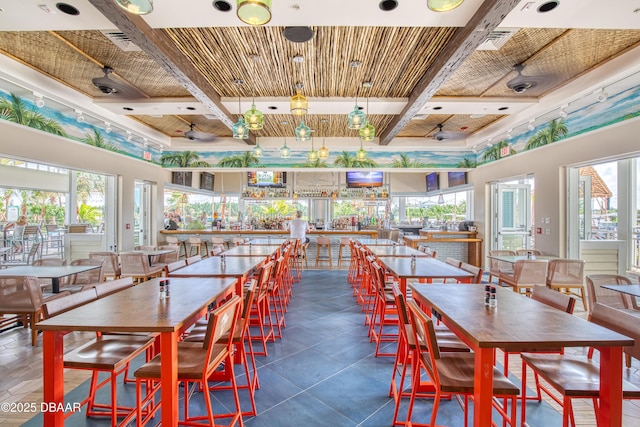
[[[449,265],[431,257],[416,259],[415,267],[411,266],[411,258],[408,257],[382,257],[380,262],[400,279],[468,279],[473,274],[460,268]]]

